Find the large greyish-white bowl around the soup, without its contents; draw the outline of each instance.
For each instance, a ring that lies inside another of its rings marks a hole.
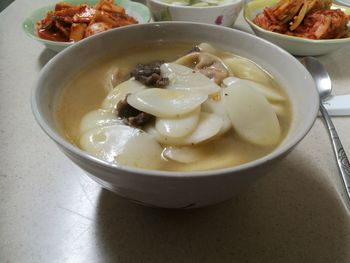
[[[81,68],[107,54],[155,41],[209,42],[247,57],[270,72],[285,88],[292,103],[292,124],[286,139],[258,160],[220,170],[165,172],[117,167],[70,144],[55,122],[55,98],[63,83]],[[103,187],[149,206],[199,207],[233,197],[274,168],[309,131],[317,116],[318,94],[312,77],[289,53],[253,35],[207,24],[162,22],[128,26],[87,38],[59,53],[40,72],[32,93],[32,110],[42,129],[73,162]]]

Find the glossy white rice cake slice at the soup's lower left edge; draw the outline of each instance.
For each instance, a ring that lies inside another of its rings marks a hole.
[[[125,125],[91,129],[80,138],[80,146],[107,162],[159,169],[162,147],[150,135]]]

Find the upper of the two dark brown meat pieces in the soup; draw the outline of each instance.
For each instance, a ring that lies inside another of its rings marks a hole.
[[[169,84],[169,79],[161,76],[160,66],[162,64],[162,61],[155,61],[149,64],[137,64],[130,75],[146,86],[163,88]]]

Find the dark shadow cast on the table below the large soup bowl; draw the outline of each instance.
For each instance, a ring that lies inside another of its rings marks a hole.
[[[349,226],[338,196],[312,180],[317,169],[289,164],[233,200],[195,210],[146,208],[104,190],[99,254],[108,262],[345,262]]]

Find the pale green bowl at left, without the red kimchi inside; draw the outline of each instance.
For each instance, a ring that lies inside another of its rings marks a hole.
[[[65,2],[78,5],[81,3],[87,3],[90,6],[95,5],[98,0],[66,0]],[[130,0],[114,0],[114,2],[125,8],[125,12],[134,17],[139,24],[148,23],[151,19],[151,14],[148,8],[137,2],[133,2]],[[43,19],[47,12],[53,10],[55,5],[44,6],[32,11],[22,22],[23,31],[32,39],[38,41],[45,45],[48,49],[51,49],[55,52],[60,52],[66,47],[73,45],[73,42],[59,42],[59,41],[51,41],[42,39],[37,35],[36,25],[41,19]]]

